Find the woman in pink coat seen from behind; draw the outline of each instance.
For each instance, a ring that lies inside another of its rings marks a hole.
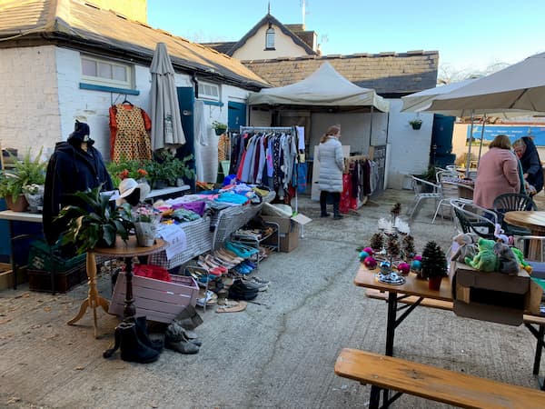
[[[475,205],[492,209],[499,195],[519,193],[519,163],[510,147],[509,137],[498,135],[490,143],[490,150],[482,155],[473,193]]]

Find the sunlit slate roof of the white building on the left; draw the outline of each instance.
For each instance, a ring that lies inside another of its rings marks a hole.
[[[258,90],[268,86],[239,60],[79,0],[0,2],[0,48],[54,44],[150,65],[165,43],[174,69]]]

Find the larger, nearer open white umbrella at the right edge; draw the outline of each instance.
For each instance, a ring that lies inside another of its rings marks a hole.
[[[483,76],[449,94],[435,98],[428,111],[458,112],[462,116],[532,115],[545,112],[545,53]],[[449,114],[446,114],[449,115]]]

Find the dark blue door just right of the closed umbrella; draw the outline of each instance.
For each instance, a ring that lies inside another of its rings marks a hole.
[[[195,94],[193,86],[179,86],[176,88],[178,93],[178,105],[180,106],[180,116],[182,118],[183,135],[185,135],[185,145],[176,150],[176,157],[183,159],[187,155],[193,155],[193,159],[187,162],[187,165],[195,171],[195,133],[193,125],[193,109],[195,105]],[[192,191],[195,191],[195,179],[188,180],[184,178],[186,185],[190,185]]]

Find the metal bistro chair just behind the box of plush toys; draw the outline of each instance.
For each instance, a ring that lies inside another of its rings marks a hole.
[[[496,240],[494,232],[498,224],[497,214],[468,199],[451,199],[451,207],[460,233],[474,233],[485,239]]]

